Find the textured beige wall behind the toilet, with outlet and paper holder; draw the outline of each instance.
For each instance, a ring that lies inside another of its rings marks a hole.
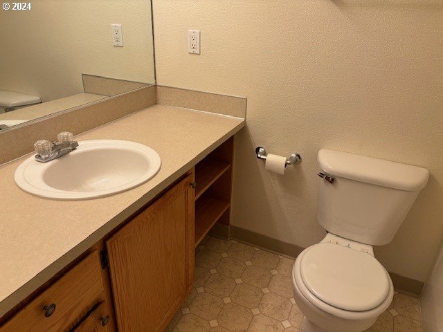
[[[245,95],[236,146],[233,223],[306,247],[316,221],[321,148],[427,167],[394,241],[392,272],[426,280],[443,236],[443,2],[153,0],[157,82]],[[191,9],[192,8],[192,9]],[[186,31],[201,30],[201,55]],[[264,171],[254,149],[302,164]]]

